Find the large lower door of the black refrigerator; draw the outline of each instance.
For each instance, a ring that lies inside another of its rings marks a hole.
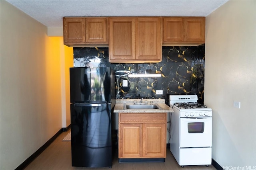
[[[111,167],[111,104],[71,110],[72,166]]]

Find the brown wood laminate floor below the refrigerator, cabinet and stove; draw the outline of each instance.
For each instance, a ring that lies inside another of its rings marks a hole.
[[[118,154],[116,154],[112,168],[72,167],[71,142],[62,141],[69,132],[70,130],[61,133],[25,170],[216,170],[212,165],[208,167],[185,166],[182,168],[178,165],[169,149],[167,149],[165,162],[119,163]]]

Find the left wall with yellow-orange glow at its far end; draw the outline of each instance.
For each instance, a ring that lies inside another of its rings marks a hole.
[[[0,16],[0,169],[10,170],[62,129],[66,73],[62,37],[48,37],[47,27],[6,1]]]

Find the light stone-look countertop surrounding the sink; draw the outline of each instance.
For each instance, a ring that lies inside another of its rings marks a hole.
[[[172,108],[165,104],[164,99],[144,99],[142,103],[158,104],[162,109],[124,109],[125,104],[139,103],[140,99],[116,99],[114,113],[170,113],[174,112]]]

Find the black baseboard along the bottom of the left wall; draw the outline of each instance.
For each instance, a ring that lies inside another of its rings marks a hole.
[[[51,139],[49,139],[42,147],[40,147],[36,152],[34,152],[31,156],[29,156],[20,166],[18,166],[15,170],[23,170],[30,164],[37,156],[39,156],[62,132],[70,129],[70,125],[66,128],[60,129]]]

